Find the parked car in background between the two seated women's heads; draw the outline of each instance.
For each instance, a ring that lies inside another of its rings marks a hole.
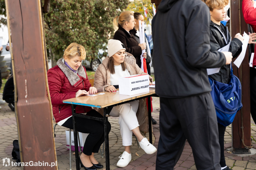
[[[108,51],[105,50],[105,52],[107,54]],[[85,59],[82,62],[82,65],[85,68],[90,68],[90,69],[92,69],[92,71],[96,71],[97,68],[99,67],[99,65],[102,63],[102,61],[106,58],[106,56],[108,56],[108,55],[104,56],[103,53],[104,53],[104,51],[102,49],[100,49],[99,52],[98,52],[97,58],[94,58],[94,59],[91,59],[91,60]]]

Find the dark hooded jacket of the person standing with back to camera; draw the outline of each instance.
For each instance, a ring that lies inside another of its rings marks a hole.
[[[225,65],[210,52],[210,11],[201,0],[162,0],[152,20],[156,93],[166,98],[211,91],[206,68]]]

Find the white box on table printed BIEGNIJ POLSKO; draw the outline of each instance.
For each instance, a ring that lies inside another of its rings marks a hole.
[[[119,94],[135,95],[149,92],[149,77],[146,74],[119,78]]]

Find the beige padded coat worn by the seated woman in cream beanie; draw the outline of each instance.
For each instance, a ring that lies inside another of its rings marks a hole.
[[[102,64],[99,65],[98,69],[95,72],[94,87],[97,88],[98,92],[103,92],[105,87],[110,86],[110,71],[108,70],[108,62],[109,56],[103,60]],[[136,59],[130,53],[125,52],[124,63],[130,75],[147,74],[138,67],[138,65],[136,64]],[[153,78],[150,75],[148,76],[150,81],[153,82]],[[93,109],[97,110],[99,113],[103,115],[103,109]],[[138,119],[138,123],[140,125],[140,131],[148,132],[148,111],[146,99],[139,100],[139,107],[136,116]]]

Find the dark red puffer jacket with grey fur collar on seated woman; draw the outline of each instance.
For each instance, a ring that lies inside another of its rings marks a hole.
[[[76,97],[78,90],[89,91],[91,84],[86,74],[86,69],[81,65],[77,74],[71,71],[60,58],[57,66],[47,72],[48,85],[51,96],[52,112],[56,123],[72,116],[71,104],[62,101]],[[76,113],[87,113],[91,107],[78,105]]]

